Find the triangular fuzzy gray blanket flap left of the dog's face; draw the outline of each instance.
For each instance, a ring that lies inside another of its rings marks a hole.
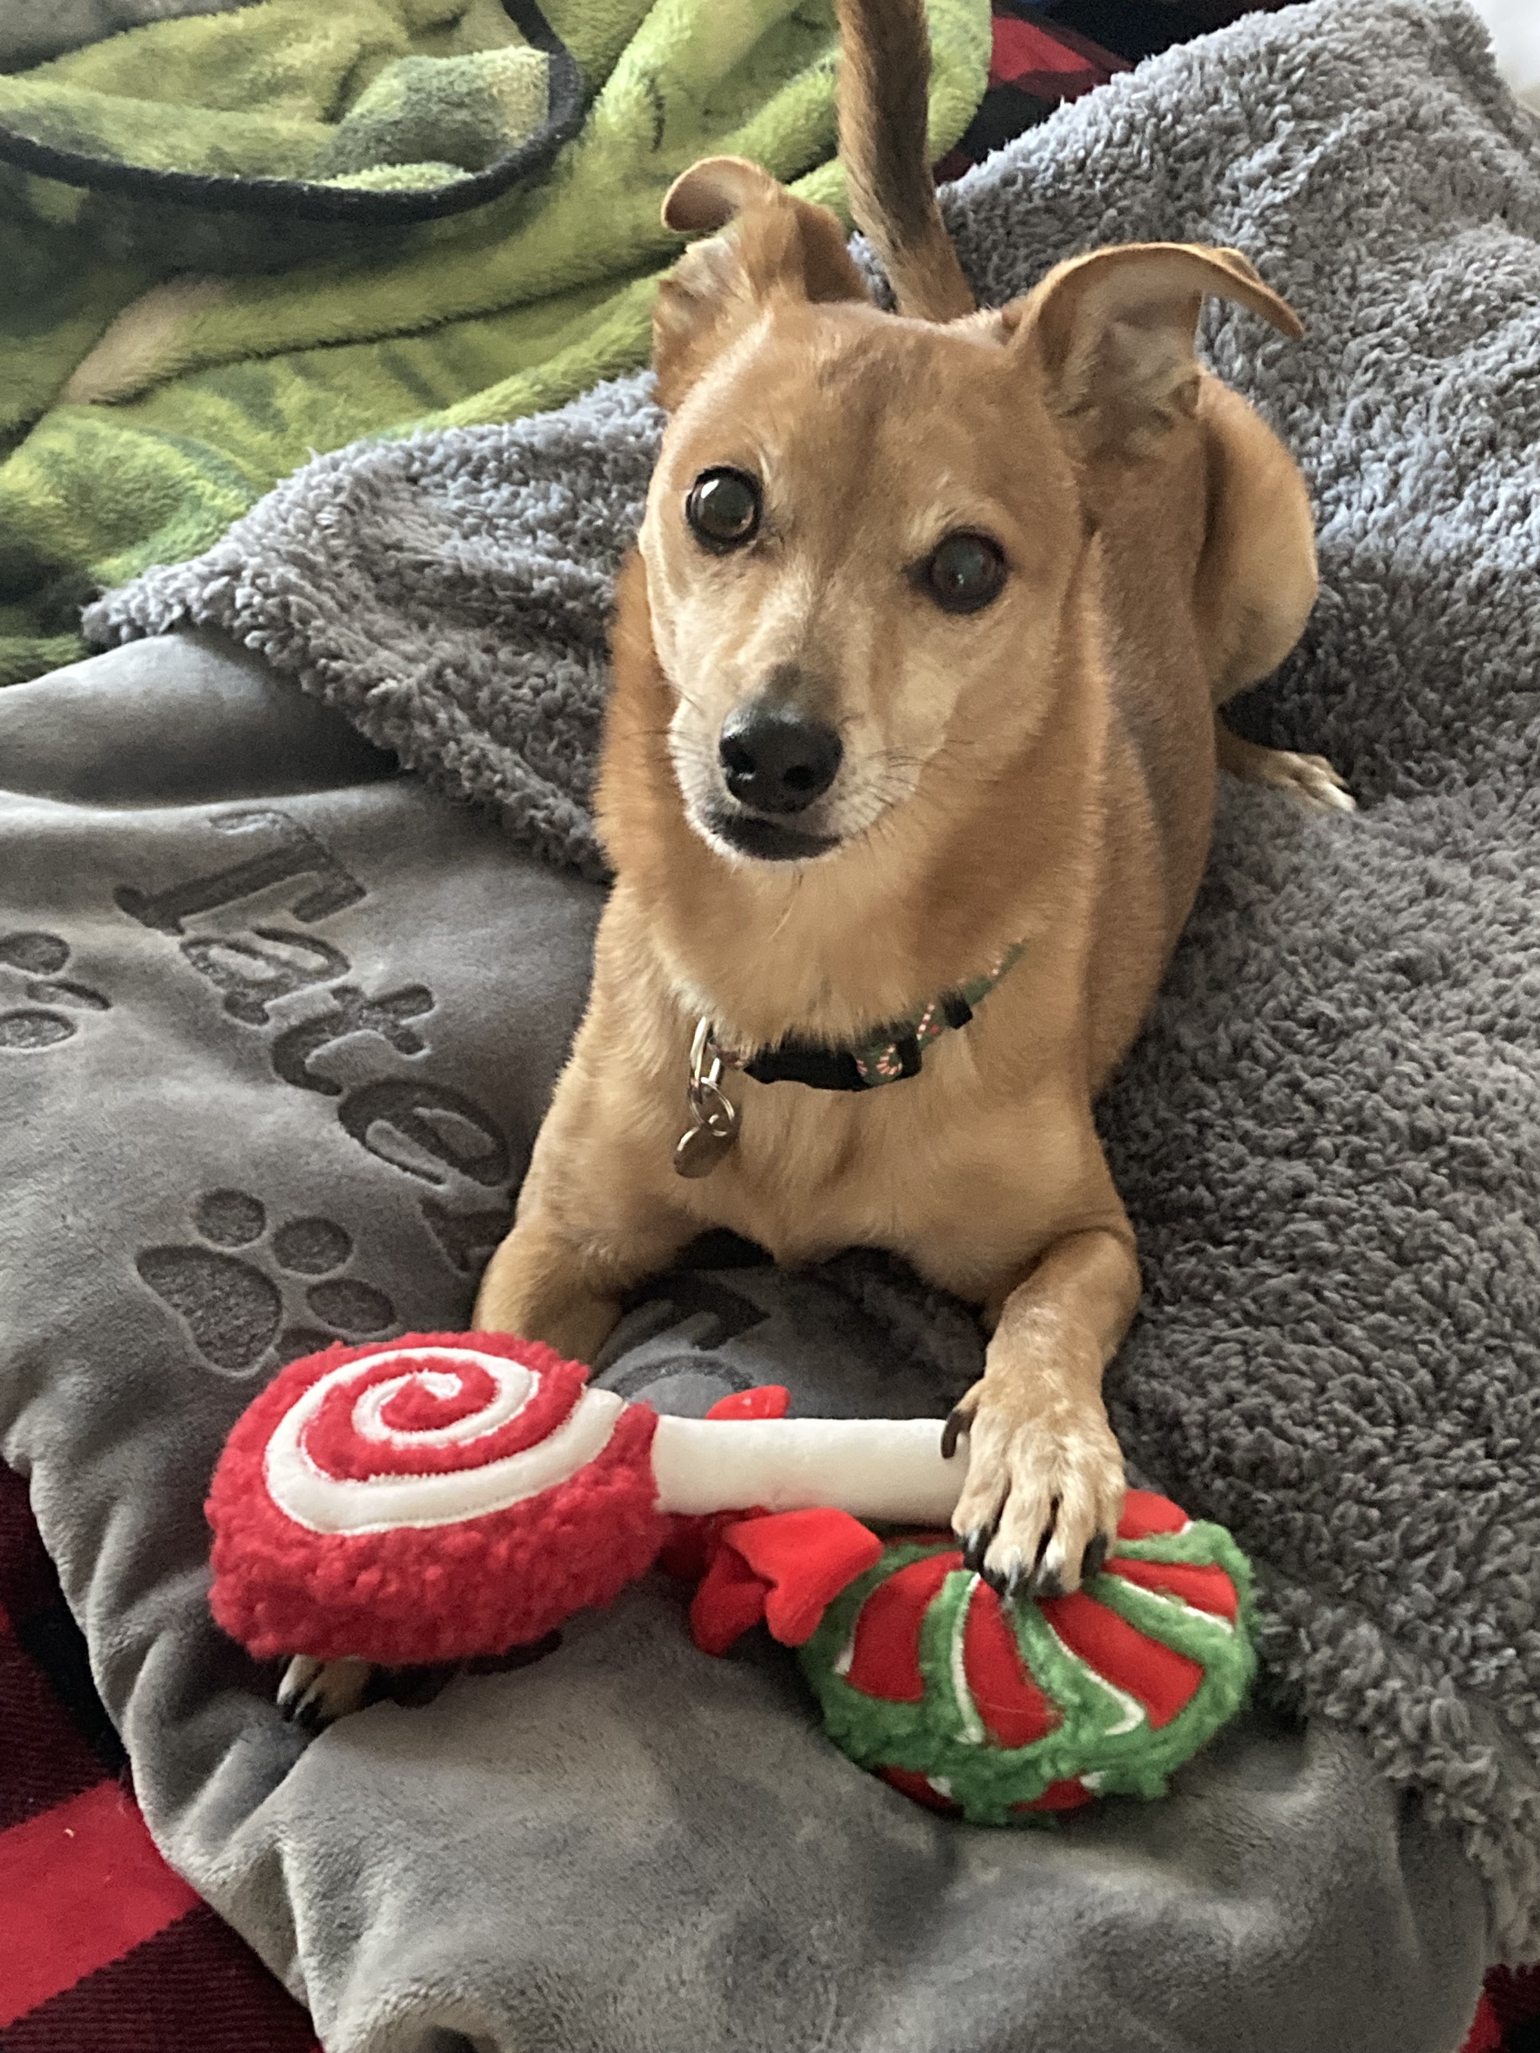
[[[207,554],[84,616],[90,641],[216,626],[380,747],[491,801],[513,838],[604,877],[587,811],[614,575],[663,415],[624,378],[515,427],[355,443]]]

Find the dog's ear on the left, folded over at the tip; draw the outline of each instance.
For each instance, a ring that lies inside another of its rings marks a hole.
[[[827,207],[797,199],[741,156],[708,156],[673,181],[663,226],[704,236],[673,265],[653,306],[663,406],[776,298],[867,300],[867,281]],[[719,232],[721,230],[721,232]]]

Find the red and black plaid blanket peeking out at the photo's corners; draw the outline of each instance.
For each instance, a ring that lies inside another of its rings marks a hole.
[[[938,177],[1242,10],[994,0],[990,86]],[[300,2004],[154,1850],[27,1488],[0,1468],[0,2053],[193,2049],[318,2053]],[[1489,1977],[1464,2053],[1540,2053],[1540,1969]]]

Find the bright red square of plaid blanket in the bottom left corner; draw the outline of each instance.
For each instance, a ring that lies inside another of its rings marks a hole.
[[[12,1825],[0,1833],[0,2030],[195,1903],[117,1782]]]

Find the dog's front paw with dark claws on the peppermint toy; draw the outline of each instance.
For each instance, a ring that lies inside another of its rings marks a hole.
[[[973,1384],[947,1437],[967,1433],[953,1513],[963,1560],[1006,1597],[1062,1597],[1096,1575],[1123,1515],[1123,1451],[1101,1398],[1033,1412]]]

